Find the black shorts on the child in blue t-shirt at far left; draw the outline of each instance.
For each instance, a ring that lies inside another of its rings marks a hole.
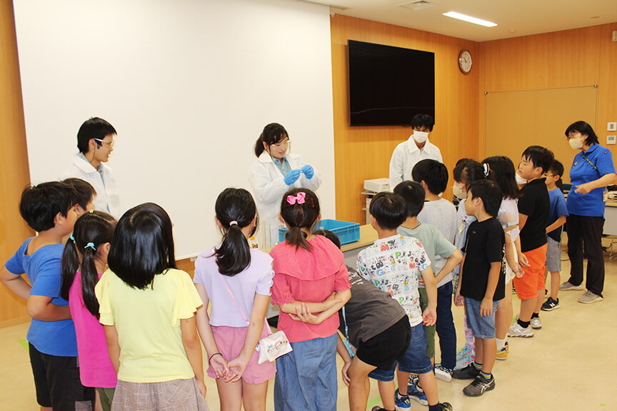
[[[75,411],[78,402],[94,409],[94,388],[84,387],[79,380],[77,357],[58,357],[36,350],[29,344],[30,364],[34,374],[36,401],[54,411]]]

